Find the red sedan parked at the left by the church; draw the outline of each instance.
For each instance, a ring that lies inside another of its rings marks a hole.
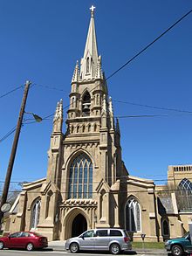
[[[16,232],[0,238],[0,250],[5,248],[24,248],[32,251],[35,248],[48,246],[47,238],[37,232]]]

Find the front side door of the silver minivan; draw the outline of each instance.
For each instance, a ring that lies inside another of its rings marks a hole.
[[[79,237],[79,249],[80,250],[93,250],[94,249],[94,231],[93,230],[84,232]]]

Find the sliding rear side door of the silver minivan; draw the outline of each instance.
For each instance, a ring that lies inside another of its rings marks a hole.
[[[94,239],[95,250],[108,250],[109,236],[107,229],[96,230]]]

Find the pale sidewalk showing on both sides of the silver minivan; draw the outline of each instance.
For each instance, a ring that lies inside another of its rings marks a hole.
[[[65,241],[61,241],[61,240],[56,240],[56,241],[51,241],[48,243],[49,248],[51,248],[53,251],[61,251],[61,252],[65,252]],[[168,255],[168,253],[166,253],[166,250],[164,249],[144,249],[142,250],[134,248],[132,253],[123,253],[123,254],[127,254],[127,255],[143,255],[143,254],[155,254],[155,255]]]

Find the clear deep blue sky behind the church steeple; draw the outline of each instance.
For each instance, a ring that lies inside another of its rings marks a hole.
[[[25,110],[42,117],[53,114],[61,98],[64,106],[69,104],[72,73],[83,56],[92,4],[106,77],[192,9],[187,0],[6,0],[0,4],[0,96],[31,80],[36,86]],[[191,24],[192,14],[107,81],[115,116],[168,114],[120,118],[127,170],[133,176],[162,180],[156,183],[166,183],[168,165],[192,163],[192,116],[118,101],[192,111]],[[1,138],[17,124],[22,97],[19,89],[0,98]],[[24,125],[12,182],[46,176],[51,128],[52,118]],[[10,135],[0,143],[0,181],[12,141]]]

